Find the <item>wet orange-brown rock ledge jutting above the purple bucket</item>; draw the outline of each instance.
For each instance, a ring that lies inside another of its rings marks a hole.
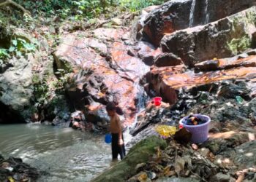
[[[162,95],[162,98],[174,104],[178,99],[178,90],[189,90],[192,87],[227,79],[255,79],[256,67],[253,67],[255,66],[255,60],[256,56],[230,62],[219,60],[219,68],[227,69],[200,73],[191,70],[186,71],[184,66],[154,67],[151,69],[151,84],[154,90]]]

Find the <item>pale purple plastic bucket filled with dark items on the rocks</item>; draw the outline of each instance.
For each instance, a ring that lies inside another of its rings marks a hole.
[[[186,116],[179,121],[179,124],[183,125],[189,132],[192,133],[192,138],[191,138],[192,143],[203,143],[208,139],[208,131],[210,127],[211,118],[209,116],[202,115],[202,114],[193,114],[193,115],[197,116],[197,118],[199,119],[206,121],[206,123],[199,124],[199,125],[184,124],[184,120],[189,117],[189,116]]]

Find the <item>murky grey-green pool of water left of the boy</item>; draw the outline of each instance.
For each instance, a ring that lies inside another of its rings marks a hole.
[[[46,172],[38,181],[90,181],[111,162],[102,136],[41,124],[0,125],[0,154]]]

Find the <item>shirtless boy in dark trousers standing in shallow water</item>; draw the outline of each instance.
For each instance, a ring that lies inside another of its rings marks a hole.
[[[110,116],[112,159],[117,160],[118,154],[120,154],[121,159],[123,159],[125,156],[124,137],[121,121],[118,114],[116,113],[116,105],[114,103],[108,103],[106,110],[108,112],[108,116]]]

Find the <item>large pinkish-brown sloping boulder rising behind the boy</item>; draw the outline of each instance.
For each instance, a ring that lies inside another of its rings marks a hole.
[[[61,37],[62,43],[54,53],[58,68],[75,72],[67,92],[75,108],[89,111],[90,119],[94,120],[91,122],[100,122],[101,116],[92,115],[100,113],[95,110],[104,109],[102,106],[110,101],[124,110],[126,124],[135,119],[138,97],[143,94],[138,82],[149,71],[140,58],[153,61],[159,50],[143,43],[141,49],[133,50],[134,47],[121,41],[125,33],[127,29],[121,28],[70,33]]]

